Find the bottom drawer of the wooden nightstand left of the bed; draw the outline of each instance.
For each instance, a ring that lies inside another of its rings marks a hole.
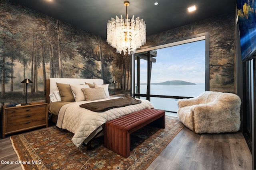
[[[36,125],[46,124],[45,118],[31,119],[28,121],[21,121],[18,123],[7,124],[6,132],[15,131],[18,129],[25,129]]]

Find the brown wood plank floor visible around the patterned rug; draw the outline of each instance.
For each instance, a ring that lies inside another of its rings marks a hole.
[[[10,137],[0,139],[2,160],[18,160]],[[22,170],[2,163],[0,169]],[[199,135],[184,127],[146,170],[252,170],[252,154],[242,133]]]

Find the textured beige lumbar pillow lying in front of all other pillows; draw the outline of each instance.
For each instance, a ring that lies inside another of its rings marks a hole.
[[[102,87],[100,88],[82,88],[86,101],[105,99],[106,94]]]

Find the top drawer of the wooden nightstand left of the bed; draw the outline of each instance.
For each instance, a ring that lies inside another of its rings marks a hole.
[[[26,107],[26,108],[14,108],[7,110],[7,117],[27,115],[30,113],[38,113],[45,112],[45,106],[37,106],[37,107]]]

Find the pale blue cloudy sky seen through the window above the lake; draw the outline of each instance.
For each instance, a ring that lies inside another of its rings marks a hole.
[[[151,82],[183,80],[205,83],[205,41],[196,41],[157,49],[156,63],[152,63]],[[146,83],[147,61],[140,61],[141,83]]]

